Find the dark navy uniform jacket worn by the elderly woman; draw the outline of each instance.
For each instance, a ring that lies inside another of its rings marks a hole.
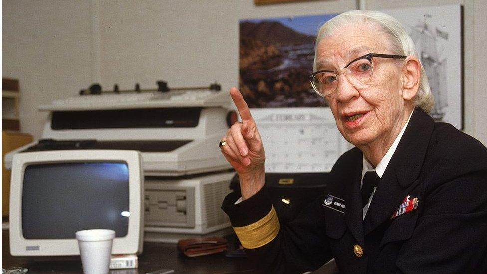
[[[341,273],[487,273],[484,145],[416,108],[365,220],[361,172],[362,152],[344,153],[320,199],[278,227],[273,239],[246,249],[256,268],[302,273],[335,258]],[[329,195],[342,199],[344,208],[326,207]],[[418,198],[417,209],[391,219],[408,195]],[[266,188],[235,205],[237,196],[229,194],[222,206],[234,228],[252,227],[273,211]]]

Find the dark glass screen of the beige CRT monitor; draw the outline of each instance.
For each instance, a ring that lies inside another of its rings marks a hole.
[[[31,164],[25,168],[25,239],[70,239],[84,229],[128,231],[129,174],[123,162]]]

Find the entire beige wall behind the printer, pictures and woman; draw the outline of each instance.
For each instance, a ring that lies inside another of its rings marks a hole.
[[[253,0],[3,0],[3,77],[20,79],[21,125],[39,138],[37,106],[99,82],[111,89],[238,84],[238,21],[338,13],[356,0],[255,6]],[[461,3],[465,7],[465,131],[487,144],[484,0],[366,0],[369,9]]]

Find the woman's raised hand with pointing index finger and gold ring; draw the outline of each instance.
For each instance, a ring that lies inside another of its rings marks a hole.
[[[265,183],[265,153],[262,139],[250,109],[237,88],[230,89],[230,96],[237,106],[242,122],[236,122],[222,138],[222,154],[237,171],[240,178],[242,199],[257,193]]]

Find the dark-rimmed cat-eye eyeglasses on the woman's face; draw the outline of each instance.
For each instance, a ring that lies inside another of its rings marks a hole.
[[[309,75],[309,81],[314,91],[320,96],[329,96],[338,89],[338,75],[345,74],[353,86],[363,86],[372,78],[374,71],[372,58],[406,59],[403,55],[369,53],[353,59],[340,70],[318,70]]]

